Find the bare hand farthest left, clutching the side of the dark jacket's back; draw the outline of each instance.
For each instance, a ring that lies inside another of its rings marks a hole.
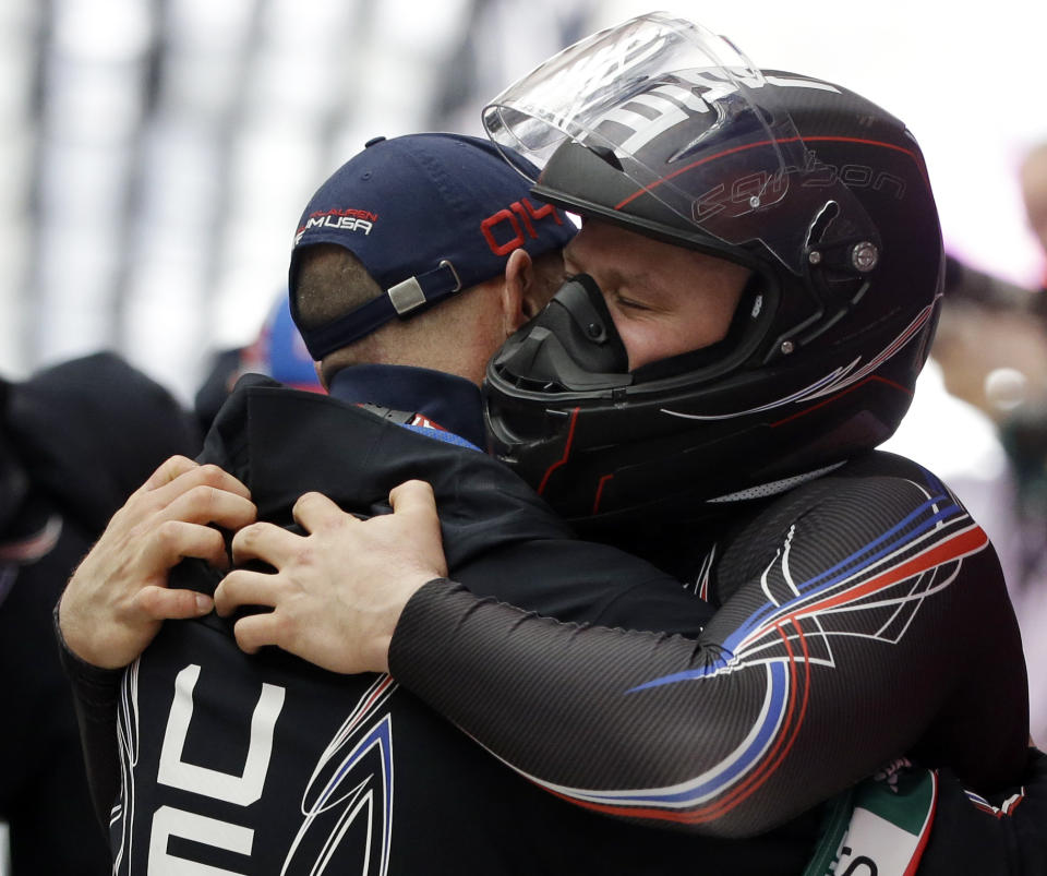
[[[239,529],[256,509],[240,481],[217,466],[172,456],[118,511],[73,573],[59,604],[67,646],[88,663],[125,667],[145,650],[166,619],[195,617],[212,600],[167,589],[167,574],[185,556],[228,568],[217,524]]]

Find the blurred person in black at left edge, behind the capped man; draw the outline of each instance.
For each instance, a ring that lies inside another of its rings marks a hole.
[[[51,613],[143,476],[195,446],[174,398],[110,353],[0,381],[0,818],[13,876],[109,872]]]

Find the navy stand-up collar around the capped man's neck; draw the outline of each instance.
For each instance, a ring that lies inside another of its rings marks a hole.
[[[356,405],[418,413],[437,429],[486,446],[480,389],[464,377],[408,365],[351,365],[332,377],[330,395]]]

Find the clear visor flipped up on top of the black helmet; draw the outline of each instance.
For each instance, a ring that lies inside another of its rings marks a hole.
[[[774,91],[725,38],[651,13],[564,49],[495,97],[483,123],[517,166],[514,152],[540,171],[565,142],[613,156],[631,199],[651,195],[725,243],[759,241],[799,273],[807,229],[774,221],[775,207],[864,211],[818,166]]]

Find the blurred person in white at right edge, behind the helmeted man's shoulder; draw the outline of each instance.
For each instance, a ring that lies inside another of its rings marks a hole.
[[[1047,518],[1035,506],[1027,411],[1047,381],[1047,337],[1031,316],[1035,293],[947,257],[930,359],[910,411],[881,449],[931,468],[992,541],[1022,628],[1030,731],[1047,740],[1047,650],[1039,634]],[[1027,376],[1026,376],[1027,375]],[[942,434],[954,440],[942,441]],[[1020,442],[1022,443],[1020,445]],[[1038,465],[1043,466],[1042,460]]]

